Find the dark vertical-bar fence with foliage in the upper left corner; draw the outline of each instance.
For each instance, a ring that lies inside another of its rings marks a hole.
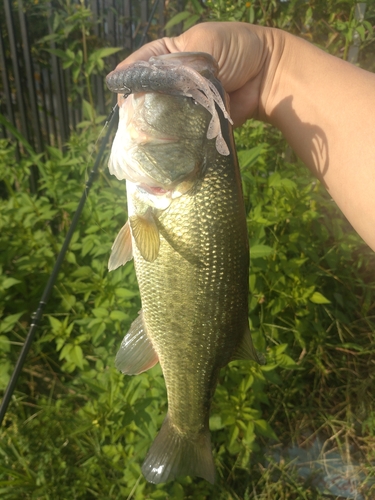
[[[106,72],[142,35],[163,36],[166,18],[182,8],[181,0],[2,0],[0,137],[20,133],[37,153],[46,145],[63,147],[83,118],[85,100],[108,114]],[[90,54],[105,47],[122,50],[104,58],[101,71],[103,60],[90,70]]]

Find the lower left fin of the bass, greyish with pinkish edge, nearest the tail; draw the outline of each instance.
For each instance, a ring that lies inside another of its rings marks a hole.
[[[158,361],[158,355],[147,336],[141,311],[121,342],[115,366],[126,375],[138,375],[152,368]]]

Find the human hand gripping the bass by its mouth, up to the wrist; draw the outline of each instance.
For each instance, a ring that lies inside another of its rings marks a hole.
[[[144,45],[116,69],[162,54],[209,53],[218,63],[218,78],[230,97],[230,115],[234,125],[239,126],[250,117],[264,118],[264,103],[270,90],[267,82],[272,81],[269,73],[275,31],[278,30],[246,23],[202,23],[178,37]],[[119,102],[121,99],[119,96]]]

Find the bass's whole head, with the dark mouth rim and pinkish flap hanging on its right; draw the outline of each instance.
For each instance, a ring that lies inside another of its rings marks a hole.
[[[126,94],[109,170],[148,193],[156,208],[192,188],[215,154],[213,139],[219,154],[230,154],[232,120],[217,71],[209,54],[185,52],[137,61],[107,76],[113,92]]]

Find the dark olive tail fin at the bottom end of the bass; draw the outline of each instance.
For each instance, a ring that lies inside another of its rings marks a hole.
[[[178,476],[199,476],[215,482],[215,465],[208,428],[199,434],[181,434],[167,414],[145,461],[142,472],[150,483],[165,483]]]

